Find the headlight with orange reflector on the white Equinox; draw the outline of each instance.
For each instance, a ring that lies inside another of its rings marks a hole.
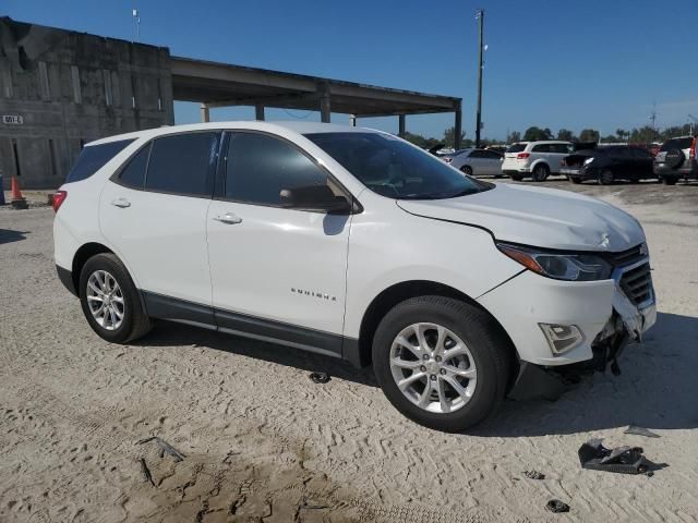
[[[597,281],[611,278],[611,264],[593,254],[557,254],[497,243],[497,248],[527,269],[557,280]]]

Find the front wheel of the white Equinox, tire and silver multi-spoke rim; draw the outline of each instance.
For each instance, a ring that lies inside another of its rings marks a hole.
[[[443,344],[446,350],[456,346],[448,344],[455,341],[454,338],[459,339],[461,346],[466,346],[468,354],[455,356],[446,367],[459,365],[461,373],[470,373],[474,365],[474,379],[459,377],[457,381],[461,390],[470,391],[469,397],[458,394],[450,387],[448,380],[453,380],[455,375],[440,367],[447,362],[442,360],[438,363],[438,357],[433,353],[429,360],[423,360],[424,351],[416,346],[408,350],[406,345],[396,343],[402,336],[412,345],[417,341],[413,327],[418,324],[426,329],[423,338],[431,340],[433,349],[437,349],[435,326],[448,331]],[[419,296],[396,305],[381,320],[373,339],[373,368],[383,392],[405,416],[425,427],[456,433],[493,415],[504,400],[512,368],[509,348],[510,341],[498,324],[476,306],[443,296]],[[418,358],[414,351],[422,358]],[[458,362],[457,358],[462,360]],[[412,370],[392,365],[396,361],[420,366]],[[406,388],[408,392],[404,393],[397,381],[414,374],[419,374],[420,378],[411,381]],[[443,396],[433,388],[428,393],[429,384],[437,384]],[[417,404],[419,398],[426,399],[423,403],[425,406]],[[442,398],[450,402],[448,409],[443,408]]]

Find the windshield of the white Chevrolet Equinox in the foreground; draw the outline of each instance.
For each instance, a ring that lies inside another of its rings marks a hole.
[[[374,193],[397,199],[464,196],[493,185],[465,177],[443,160],[380,133],[306,134]]]

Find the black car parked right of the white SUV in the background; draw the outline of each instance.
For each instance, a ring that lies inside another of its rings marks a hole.
[[[559,170],[573,183],[593,180],[610,185],[615,180],[637,182],[655,178],[652,170],[654,158],[641,147],[625,145],[597,146],[581,149],[565,157]]]

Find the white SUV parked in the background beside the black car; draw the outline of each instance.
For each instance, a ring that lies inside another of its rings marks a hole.
[[[534,182],[543,182],[551,174],[559,174],[562,159],[573,150],[569,142],[517,142],[504,153],[502,171],[512,180],[520,181],[530,175]]]

